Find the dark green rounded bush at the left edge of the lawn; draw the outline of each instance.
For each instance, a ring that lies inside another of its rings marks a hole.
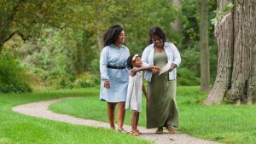
[[[31,92],[32,89],[25,81],[25,73],[16,60],[9,56],[0,57],[0,93],[24,93]]]

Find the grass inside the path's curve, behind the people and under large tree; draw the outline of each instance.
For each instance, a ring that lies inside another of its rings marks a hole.
[[[91,89],[98,94],[98,89]],[[179,131],[224,143],[256,143],[256,106],[204,106],[201,101],[207,94],[198,92],[199,87],[178,87],[177,107],[180,116]],[[143,99],[143,104],[145,100]],[[108,122],[106,102],[98,96],[84,96],[59,101],[50,106],[54,112],[67,113],[79,118]],[[146,124],[145,105],[139,124]],[[131,111],[126,111],[125,124],[130,124]]]

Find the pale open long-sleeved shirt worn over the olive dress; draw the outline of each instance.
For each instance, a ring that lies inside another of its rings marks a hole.
[[[166,51],[168,63],[174,63],[177,66],[179,66],[181,62],[181,58],[176,46],[173,43],[165,43],[164,49]],[[148,45],[148,47],[144,49],[143,55],[142,55],[143,65],[154,66],[153,57],[154,57],[154,43]],[[144,78],[148,82],[151,82],[152,73],[153,72],[145,71]],[[172,72],[169,72],[169,80],[176,79],[176,77],[177,77],[177,71],[175,68]]]

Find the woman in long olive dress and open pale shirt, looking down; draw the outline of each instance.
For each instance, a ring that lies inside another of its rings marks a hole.
[[[174,134],[173,127],[178,126],[176,103],[176,68],[180,54],[173,43],[166,42],[166,35],[160,27],[153,27],[149,32],[149,45],[143,51],[144,65],[168,67],[168,71],[145,72],[148,81],[149,103],[147,104],[147,128],[158,128],[157,134],[163,133],[163,127]],[[157,70],[157,69],[156,69]]]

